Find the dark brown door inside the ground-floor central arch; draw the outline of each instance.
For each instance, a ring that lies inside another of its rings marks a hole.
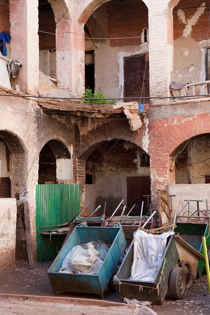
[[[151,195],[150,190],[150,177],[149,176],[139,176],[139,177],[127,177],[127,206],[131,207],[136,203],[134,212],[131,212],[131,215],[140,215],[142,201],[144,202],[143,206],[143,215],[147,214],[147,197],[143,195]]]

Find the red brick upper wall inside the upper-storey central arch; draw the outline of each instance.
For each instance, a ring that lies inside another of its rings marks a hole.
[[[141,33],[145,27],[148,28],[148,9],[143,1],[113,0],[107,3],[108,38],[140,36],[139,38],[113,39],[110,41],[110,46],[141,44]]]

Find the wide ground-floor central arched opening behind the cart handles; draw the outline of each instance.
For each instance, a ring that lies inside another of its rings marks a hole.
[[[111,215],[124,199],[128,208],[134,203],[132,215],[147,214],[146,197],[150,195],[149,155],[139,146],[126,140],[103,141],[85,163],[85,203],[89,213],[107,201],[106,215]],[[99,213],[103,211],[100,209]]]

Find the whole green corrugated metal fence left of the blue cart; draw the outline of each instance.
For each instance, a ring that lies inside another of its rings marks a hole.
[[[49,184],[36,185],[36,235],[39,262],[54,260],[57,253],[55,237],[40,235],[52,228],[40,226],[53,226],[71,221],[80,211],[81,191],[79,184]],[[61,226],[60,226],[61,227]],[[61,247],[62,238],[57,237],[58,248]]]

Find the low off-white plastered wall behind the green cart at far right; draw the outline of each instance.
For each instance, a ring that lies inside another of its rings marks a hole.
[[[208,184],[178,184],[178,185],[168,185],[168,192],[170,195],[176,195],[172,197],[173,210],[178,209],[178,212],[185,205],[184,200],[203,200],[199,203],[201,210],[206,210],[206,199],[208,200],[208,205],[210,203],[210,185]],[[196,202],[190,202],[190,210],[194,212],[197,209]],[[183,213],[188,210],[188,205],[184,208]],[[182,213],[182,214],[183,214]],[[187,213],[185,215],[188,215]]]

